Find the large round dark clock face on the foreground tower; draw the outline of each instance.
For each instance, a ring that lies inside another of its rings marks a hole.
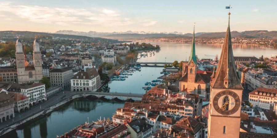
[[[241,102],[238,94],[233,91],[224,90],[215,95],[213,105],[218,113],[231,115],[239,110]]]

